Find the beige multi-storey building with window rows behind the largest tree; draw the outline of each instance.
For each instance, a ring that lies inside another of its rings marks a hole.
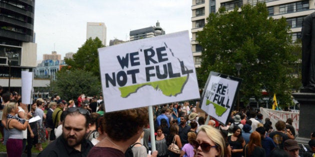
[[[301,37],[301,27],[303,17],[315,11],[314,0],[192,0],[192,28],[191,28],[191,48],[195,67],[200,67],[202,47],[195,41],[196,32],[202,30],[206,23],[206,17],[211,12],[216,12],[219,7],[225,6],[227,10],[240,7],[243,4],[255,5],[257,2],[266,2],[269,16],[279,19],[286,18],[291,27],[293,42]]]

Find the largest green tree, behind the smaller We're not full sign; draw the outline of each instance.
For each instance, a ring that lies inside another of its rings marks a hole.
[[[290,103],[291,65],[297,58],[290,53],[291,36],[284,17],[268,17],[265,3],[245,4],[241,11],[220,8],[207,17],[196,40],[204,48],[199,85],[204,86],[210,71],[237,76],[235,63],[241,63],[241,101],[262,97],[265,89],[271,98],[276,93],[281,104]]]

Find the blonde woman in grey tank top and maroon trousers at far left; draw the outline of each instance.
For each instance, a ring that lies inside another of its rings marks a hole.
[[[28,121],[31,118],[30,113],[26,115],[26,119],[15,117],[18,113],[17,103],[11,102],[4,107],[3,116],[6,116],[5,126],[9,133],[6,142],[6,152],[8,157],[20,157],[22,155],[22,130],[26,130]]]

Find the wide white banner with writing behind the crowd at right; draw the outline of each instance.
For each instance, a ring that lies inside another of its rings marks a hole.
[[[295,134],[298,132],[298,121],[299,121],[299,113],[297,112],[286,112],[286,111],[277,111],[271,109],[260,108],[260,113],[263,116],[262,121],[264,122],[265,118],[269,118],[270,122],[272,122],[272,128],[275,130],[275,123],[279,120],[286,121],[288,118],[293,120],[292,126],[295,128]]]

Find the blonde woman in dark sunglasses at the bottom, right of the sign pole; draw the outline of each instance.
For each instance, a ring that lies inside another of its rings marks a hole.
[[[197,138],[192,142],[195,157],[225,157],[225,141],[220,131],[205,125],[198,130]]]

